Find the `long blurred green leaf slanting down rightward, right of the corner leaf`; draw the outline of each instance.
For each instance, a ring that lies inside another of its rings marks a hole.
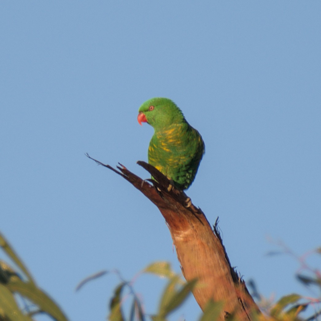
[[[23,282],[17,277],[12,277],[6,286],[10,291],[17,292],[32,301],[41,311],[48,313],[56,320],[67,321],[67,317],[57,304],[44,291],[37,288],[34,283]]]

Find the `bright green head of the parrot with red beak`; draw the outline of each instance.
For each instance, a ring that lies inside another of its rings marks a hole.
[[[185,120],[182,111],[168,98],[149,99],[140,106],[138,112],[139,124],[147,122],[154,129],[165,129]]]

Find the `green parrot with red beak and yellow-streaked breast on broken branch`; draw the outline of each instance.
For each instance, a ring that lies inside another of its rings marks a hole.
[[[194,181],[205,152],[201,135],[168,98],[147,100],[138,112],[139,124],[147,122],[154,128],[148,163],[167,176],[176,189],[186,190]]]

